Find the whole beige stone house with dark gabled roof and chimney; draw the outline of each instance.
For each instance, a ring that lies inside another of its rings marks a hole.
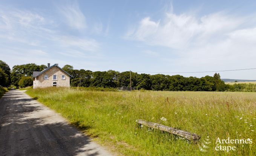
[[[33,72],[33,88],[38,87],[69,87],[70,74],[61,69],[58,64],[50,66],[41,72]]]

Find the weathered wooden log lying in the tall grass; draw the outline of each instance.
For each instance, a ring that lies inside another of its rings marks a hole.
[[[182,138],[188,139],[190,141],[198,141],[201,138],[200,135],[197,135],[195,133],[190,133],[185,130],[180,130],[180,129],[176,129],[176,128],[169,127],[169,126],[164,126],[159,123],[153,123],[153,122],[149,122],[149,121],[145,121],[145,120],[141,120],[141,119],[136,120],[136,123],[145,125],[147,127],[153,128],[153,129],[159,129],[164,132],[169,132],[169,133],[172,133],[175,135],[179,135]]]

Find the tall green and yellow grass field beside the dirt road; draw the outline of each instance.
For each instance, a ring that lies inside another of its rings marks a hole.
[[[98,92],[54,87],[26,93],[118,155],[256,155],[256,93]],[[138,127],[136,119],[197,133],[201,141],[188,142],[169,133]],[[216,151],[218,137],[250,138],[253,143],[224,142],[224,146],[235,146],[235,151]],[[205,144],[209,148],[200,151],[198,145],[202,147],[203,141],[210,142]]]

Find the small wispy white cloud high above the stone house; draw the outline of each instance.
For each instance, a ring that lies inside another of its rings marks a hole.
[[[78,30],[86,28],[86,18],[77,3],[61,6],[58,11],[71,28]]]

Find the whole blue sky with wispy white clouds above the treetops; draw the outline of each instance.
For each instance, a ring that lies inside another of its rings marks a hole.
[[[1,0],[0,60],[139,74],[256,68],[255,8],[249,0]],[[219,74],[256,80],[256,69]]]

